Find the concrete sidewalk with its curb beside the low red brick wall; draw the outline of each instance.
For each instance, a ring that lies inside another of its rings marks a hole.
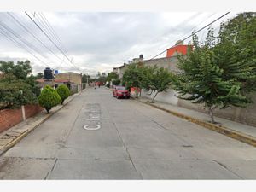
[[[45,120],[49,119],[54,113],[59,111],[61,108],[63,108],[65,105],[67,105],[68,102],[71,102],[74,97],[79,96],[80,92],[77,94],[73,94],[72,96],[69,96],[63,105],[58,105],[54,108],[52,108],[48,113],[46,113],[45,109],[38,113],[37,115],[26,119],[26,121],[22,121],[20,124],[17,124],[11,128],[9,128],[7,131],[3,131],[0,133],[0,155],[2,155],[4,152],[6,152],[9,148],[13,147],[16,143],[20,142],[20,140],[23,137],[26,137],[28,133],[36,129],[39,125],[44,123]]]

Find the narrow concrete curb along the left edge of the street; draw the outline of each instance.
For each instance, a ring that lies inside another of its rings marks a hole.
[[[79,95],[81,95],[81,92],[80,92],[77,96],[79,96]],[[66,102],[64,105],[62,105],[61,108],[64,108],[64,107],[67,105],[67,103],[73,101],[73,99],[74,99],[75,97],[77,97],[77,96],[73,96],[73,98],[70,99],[68,102]],[[32,131],[34,131],[36,128],[38,128],[39,125],[43,124],[43,123],[44,123],[47,119],[49,119],[53,114],[55,114],[56,112],[60,111],[61,108],[58,108],[58,109],[55,110],[54,112],[47,114],[47,116],[44,117],[44,119],[40,120],[37,125],[34,125],[31,129],[29,129],[29,130],[27,130],[27,131],[21,133],[19,137],[16,137],[13,141],[11,141],[11,142],[8,143],[7,145],[5,145],[5,146],[0,150],[0,156],[2,156],[2,154],[4,154],[6,151],[8,151],[9,148],[12,148],[12,147],[15,146],[15,144],[19,143],[20,140],[21,140],[22,138],[26,137],[30,132],[32,132]]]

